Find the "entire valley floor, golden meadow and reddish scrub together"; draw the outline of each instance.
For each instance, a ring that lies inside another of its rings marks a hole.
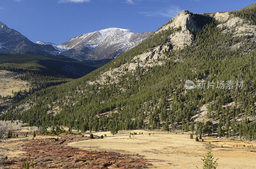
[[[108,131],[92,132],[94,139],[89,139],[88,133],[84,133],[84,137],[36,134],[32,140],[30,131],[23,127],[14,132],[18,138],[7,139],[4,143],[9,149],[9,168],[20,168],[22,163],[30,167],[33,164],[34,168],[72,168],[74,164],[77,168],[202,168],[201,158],[209,142],[213,157],[219,158],[218,168],[256,166],[254,142],[207,136],[202,137],[204,142],[196,142],[186,133],[145,130],[120,131],[116,135]],[[133,132],[137,135],[130,135]],[[99,139],[101,135],[103,139]]]

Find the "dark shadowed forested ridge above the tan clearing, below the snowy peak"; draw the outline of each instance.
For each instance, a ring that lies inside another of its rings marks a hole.
[[[38,55],[0,54],[0,70],[23,71],[17,78],[37,87],[47,87],[82,77],[96,67],[80,62],[52,59]]]

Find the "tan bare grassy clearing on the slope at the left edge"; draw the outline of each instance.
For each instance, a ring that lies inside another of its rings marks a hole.
[[[14,79],[18,73],[13,73],[10,71],[0,70],[0,95],[7,96],[12,94],[13,92],[24,91],[25,89],[28,91],[30,85],[28,82],[22,81],[20,79]],[[27,85],[28,84],[28,85]]]

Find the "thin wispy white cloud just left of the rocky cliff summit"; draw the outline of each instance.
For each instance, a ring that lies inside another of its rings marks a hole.
[[[164,9],[152,9],[150,11],[143,11],[143,12],[137,12],[139,14],[142,14],[147,17],[154,17],[154,16],[161,16],[161,17],[168,17],[172,18],[178,13],[182,11],[179,6],[172,6],[170,8],[164,8]]]

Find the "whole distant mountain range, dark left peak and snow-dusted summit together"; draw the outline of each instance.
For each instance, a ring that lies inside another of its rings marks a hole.
[[[0,53],[63,56],[78,61],[112,60],[138,45],[154,32],[132,33],[129,29],[107,28],[85,33],[56,45],[31,42],[21,33],[0,22]]]

